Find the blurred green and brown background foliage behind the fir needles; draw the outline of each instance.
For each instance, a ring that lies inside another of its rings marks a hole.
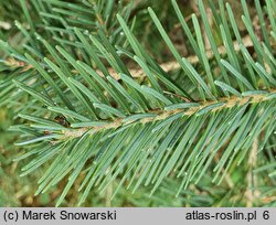
[[[64,2],[81,3],[82,1],[66,0]],[[92,2],[96,2],[97,6],[100,6],[102,1],[92,0]],[[179,0],[178,2],[185,15],[190,15],[192,12],[197,13],[194,1]],[[214,2],[217,3],[216,1]],[[242,14],[240,2],[236,0],[229,0],[229,2],[231,2],[231,6],[234,8],[235,15],[240,17],[240,14]],[[255,14],[253,1],[248,0],[247,2],[251,13]],[[172,55],[166,47],[163,47],[163,42],[147,13],[148,6],[155,9],[181,55],[187,56],[191,54],[191,52],[189,52],[189,46],[184,44],[185,36],[178,29],[179,24],[177,23],[174,13],[172,13],[170,1],[125,0],[115,1],[115,4],[117,8],[131,4],[129,24],[135,20],[135,25],[132,28],[134,33],[141,44],[147,50],[150,50],[149,52],[160,63],[172,60]],[[31,8],[33,6],[29,4],[29,7]],[[43,18],[40,17],[35,10],[33,10],[32,18],[35,18],[33,20],[34,23],[43,22]],[[94,19],[96,20],[98,18]],[[24,40],[22,33],[14,25],[15,20],[28,26],[28,21],[23,17],[20,1],[0,0],[0,39],[9,40],[11,45],[20,49],[26,40]],[[98,20],[100,21],[100,19]],[[187,21],[189,22],[189,18],[187,18]],[[113,28],[109,29],[113,31]],[[217,41],[220,42],[220,40]],[[0,57],[3,56],[4,53],[0,52]],[[7,73],[0,67],[0,82],[6,76]],[[13,143],[18,136],[17,133],[9,131],[10,126],[18,124],[19,119],[17,113],[19,110],[20,108],[14,109],[13,107],[9,107],[9,104],[1,105],[0,103],[0,206],[54,206],[57,196],[61,194],[66,183],[61,182],[59,185],[52,186],[47,193],[34,196],[38,188],[36,181],[41,178],[42,171],[36,170],[31,175],[20,176],[22,162],[12,161],[25,151],[19,147],[14,147]],[[270,160],[270,163],[275,163],[275,157],[270,156],[270,151],[268,151],[269,149],[276,148],[275,142],[275,139],[268,141],[266,149],[264,150],[267,150],[267,157],[259,158],[259,164],[267,163],[267,159]],[[254,202],[254,205],[276,206],[276,197],[274,195],[276,188],[272,189],[272,186],[276,184],[276,181],[262,175],[262,173],[267,173],[267,170],[264,168],[256,171],[256,173],[258,174],[258,185],[261,189],[255,193],[259,195],[259,197],[257,197],[257,202]],[[147,186],[144,186],[134,194],[128,190],[120,189],[118,194],[110,201],[113,189],[116,189],[116,185],[118,185],[118,181],[115,181],[113,185],[102,194],[93,191],[83,206],[246,206],[248,201],[246,197],[246,168],[240,167],[238,170],[232,168],[231,178],[226,178],[221,185],[213,184],[212,178],[209,178],[206,174],[204,180],[200,182],[200,185],[191,185],[187,191],[182,191],[180,197],[177,199],[174,197],[174,194],[179,186],[179,181],[168,178],[151,197],[147,194],[150,191],[147,190]],[[76,205],[79,197],[76,194],[77,189],[78,183],[76,182],[61,206]],[[269,192],[266,192],[266,190],[269,190]],[[259,192],[262,192],[262,194]]]

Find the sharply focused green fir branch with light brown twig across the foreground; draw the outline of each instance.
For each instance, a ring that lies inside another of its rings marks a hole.
[[[57,4],[51,0],[52,3]],[[273,3],[267,0],[267,6]],[[93,186],[105,192],[116,179],[119,183],[113,195],[125,181],[129,181],[127,186],[132,186],[134,192],[142,183],[152,184],[150,194],[153,194],[171,175],[180,179],[178,196],[190,183],[197,184],[205,178],[206,171],[212,174],[212,181],[220,184],[225,175],[231,176],[230,169],[242,163],[251,149],[255,156],[256,137],[265,133],[261,138],[262,146],[270,139],[275,129],[275,10],[266,9],[270,25],[267,30],[262,26],[264,43],[259,43],[261,35],[254,32],[244,0],[242,20],[248,33],[245,36],[238,30],[232,9],[226,4],[226,14],[222,1],[219,11],[211,2],[214,19],[210,21],[200,0],[202,21],[193,14],[193,28],[187,24],[174,0],[172,4],[195,55],[180,55],[158,15],[149,8],[157,31],[176,58],[166,64],[157,63],[134,35],[127,24],[128,13],[125,18],[117,14],[118,20],[113,24],[120,26],[115,28],[114,33],[106,30],[102,19],[97,32],[87,33],[68,24],[77,22],[71,18],[72,9],[84,14],[85,24],[89,23],[88,10],[84,6],[60,2],[59,9],[42,13],[51,20],[61,20],[59,26],[43,25],[45,33],[57,41],[56,47],[52,38],[39,35],[34,41],[35,24],[30,24],[29,31],[17,23],[30,45],[25,46],[28,53],[21,55],[3,44],[7,52],[22,60],[8,58],[6,66],[24,69],[30,65],[29,71],[22,73],[30,74],[17,77],[20,69],[14,69],[14,77],[9,82],[13,81],[30,94],[30,104],[40,101],[38,109],[20,115],[31,122],[14,128],[24,138],[19,146],[31,143],[34,147],[21,156],[22,159],[33,157],[22,175],[52,160],[39,181],[36,194],[47,191],[66,175],[70,175],[68,182],[57,205],[78,176],[83,178],[81,203]],[[259,22],[263,10],[258,8]],[[23,11],[30,22],[26,6]],[[65,14],[66,19],[53,12]],[[217,25],[223,46],[217,46],[210,23]],[[120,31],[125,35],[117,35]],[[67,39],[61,39],[61,33]],[[118,43],[124,43],[124,47]],[[208,46],[211,49],[206,50]],[[128,68],[125,56],[140,68]],[[169,74],[174,69],[180,71],[179,75]],[[41,83],[33,79],[31,73],[41,77]],[[9,90],[11,86],[7,86]],[[1,97],[4,92],[0,93]],[[71,125],[53,121],[51,118],[56,114],[65,116],[62,117],[65,120],[68,117]],[[269,174],[273,176],[275,171]],[[248,181],[252,181],[250,176]],[[230,185],[233,188],[231,182]]]

